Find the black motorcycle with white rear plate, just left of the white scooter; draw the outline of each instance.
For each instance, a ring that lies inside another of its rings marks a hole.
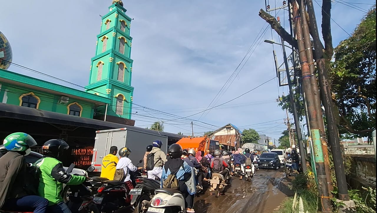
[[[140,160],[139,163],[143,162]],[[137,165],[136,165],[137,166]],[[141,176],[135,178],[135,188],[131,189],[129,195],[131,196],[131,205],[135,208],[135,213],[142,212],[142,202],[144,200],[150,201],[155,195],[155,190],[161,187],[160,182],[156,178],[155,180],[143,177],[143,169],[139,170]]]

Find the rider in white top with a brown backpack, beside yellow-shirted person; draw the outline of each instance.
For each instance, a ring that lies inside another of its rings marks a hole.
[[[133,189],[130,171],[136,172],[136,170],[138,170],[138,168],[133,165],[132,161],[128,158],[131,152],[132,151],[127,147],[123,147],[119,150],[118,154],[120,159],[118,164],[116,164],[116,172],[114,176],[114,180],[126,182],[126,185],[130,190]]]

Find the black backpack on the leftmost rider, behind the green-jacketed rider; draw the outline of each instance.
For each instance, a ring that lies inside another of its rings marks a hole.
[[[26,167],[25,192],[28,195],[38,195],[38,186],[41,178],[41,170],[36,166]]]

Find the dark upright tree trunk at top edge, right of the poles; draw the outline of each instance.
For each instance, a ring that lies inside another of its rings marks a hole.
[[[331,60],[334,54],[333,37],[331,35],[331,0],[322,1],[322,36],[323,41],[325,41],[325,58]]]

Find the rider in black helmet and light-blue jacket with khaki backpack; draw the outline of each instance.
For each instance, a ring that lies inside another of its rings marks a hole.
[[[179,144],[170,145],[168,153],[169,158],[162,169],[161,187],[179,190],[185,198],[186,212],[195,213],[195,171],[181,158],[183,150]]]

